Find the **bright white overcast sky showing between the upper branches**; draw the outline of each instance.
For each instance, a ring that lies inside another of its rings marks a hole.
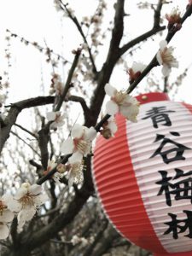
[[[90,15],[96,8],[96,0],[70,0],[69,3],[75,9],[79,19],[84,15]],[[106,12],[106,23],[113,17],[113,3],[114,1],[107,1],[109,3],[109,11]],[[138,10],[136,3],[139,1],[125,1],[125,12],[131,14],[125,18],[125,37],[123,42],[134,38],[139,33],[145,32],[150,29],[153,22],[152,10]],[[145,1],[143,1],[145,2]],[[157,1],[148,1],[150,3],[156,3]],[[174,5],[179,6],[181,11],[184,11],[185,3],[188,1],[174,0]],[[4,59],[4,49],[6,44],[4,42],[5,30],[8,28],[10,31],[17,33],[21,37],[36,41],[39,44],[44,45],[44,40],[51,49],[62,55],[72,59],[71,50],[77,48],[82,40],[79,34],[76,32],[75,27],[66,18],[61,18],[53,7],[53,0],[6,0],[0,2],[0,72],[6,69],[6,60]],[[164,13],[169,13],[172,9],[172,5],[164,8]],[[62,21],[61,21],[62,20]],[[172,39],[172,46],[176,47],[175,55],[178,57],[179,69],[174,70],[172,75],[176,77],[179,72],[183,72],[183,69],[190,65],[192,62],[192,37],[190,35],[192,31],[192,18],[190,17],[183,25],[183,28]],[[143,61],[148,63],[154,56],[154,53],[158,49],[160,37],[156,37],[157,41],[148,41],[143,45],[143,51],[135,55],[135,61]],[[161,38],[162,39],[162,38]],[[25,46],[20,44],[20,41],[14,39],[12,41],[11,51],[11,64],[10,69],[10,99],[12,101],[18,101],[30,96],[37,96],[41,84],[41,73],[43,72],[43,82],[45,85],[45,91],[49,90],[49,74],[51,69],[49,65],[44,64],[44,55],[38,53],[37,49],[33,49],[31,46]],[[125,60],[128,65],[131,65],[132,59],[125,55]],[[154,73],[160,76],[160,67],[156,67]],[[177,99],[183,99],[186,102],[191,102],[192,99],[189,94],[191,90],[192,71],[189,70],[189,75],[183,81],[183,88],[179,90]],[[126,87],[127,77],[125,76],[125,70],[120,67],[113,73],[111,79],[112,84],[115,86]],[[144,88],[145,81],[141,83],[141,88]],[[123,84],[123,85],[122,85]]]

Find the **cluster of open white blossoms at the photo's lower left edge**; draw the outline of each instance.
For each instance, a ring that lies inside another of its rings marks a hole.
[[[8,224],[17,216],[18,231],[21,231],[26,221],[33,218],[38,207],[48,200],[42,194],[42,187],[38,184],[22,183],[20,189],[13,195],[3,195],[0,199],[0,239],[9,236]]]

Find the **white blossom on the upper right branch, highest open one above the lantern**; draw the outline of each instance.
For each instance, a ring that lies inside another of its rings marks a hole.
[[[173,48],[167,47],[166,40],[160,41],[160,50],[158,51],[156,58],[162,67],[162,73],[166,77],[171,73],[172,67],[178,67],[177,59],[172,55]]]

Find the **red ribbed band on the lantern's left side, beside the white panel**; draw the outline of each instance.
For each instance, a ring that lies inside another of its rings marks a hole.
[[[129,237],[131,242],[146,249],[150,247],[154,251],[166,253],[154,233],[143,206],[130,152],[127,148],[125,119],[117,115],[116,121],[119,127],[118,135],[115,140],[110,141],[110,147],[108,147],[107,140],[99,137],[96,142],[93,160],[96,188],[98,188],[98,194],[102,199],[102,206],[112,224],[115,224],[116,229],[120,230],[123,236]],[[105,161],[102,160],[103,156]],[[122,169],[115,175],[113,170],[120,167],[118,159],[120,159]],[[111,165],[113,165],[113,168]],[[98,168],[102,169],[103,172],[97,173]],[[109,176],[110,183],[108,183]],[[129,211],[129,208],[131,211]],[[143,234],[145,234],[144,238]]]

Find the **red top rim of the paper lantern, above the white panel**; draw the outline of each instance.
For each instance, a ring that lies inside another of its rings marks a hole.
[[[161,101],[170,101],[169,96],[164,92],[149,92],[143,93],[136,96],[137,101],[140,104],[146,104],[149,102],[161,102]]]

